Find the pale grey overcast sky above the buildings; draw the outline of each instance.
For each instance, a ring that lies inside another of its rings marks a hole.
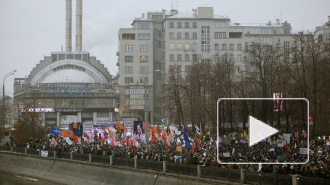
[[[72,4],[75,34],[75,0]],[[213,7],[215,15],[231,22],[281,19],[293,30],[313,31],[330,15],[330,0],[83,0],[83,50],[116,75],[119,28],[130,28],[133,19],[148,11],[177,7],[186,13],[200,6]],[[44,56],[65,49],[65,0],[0,0],[0,25],[0,79],[17,70],[5,83],[6,95],[13,96],[14,78],[28,76]]]

